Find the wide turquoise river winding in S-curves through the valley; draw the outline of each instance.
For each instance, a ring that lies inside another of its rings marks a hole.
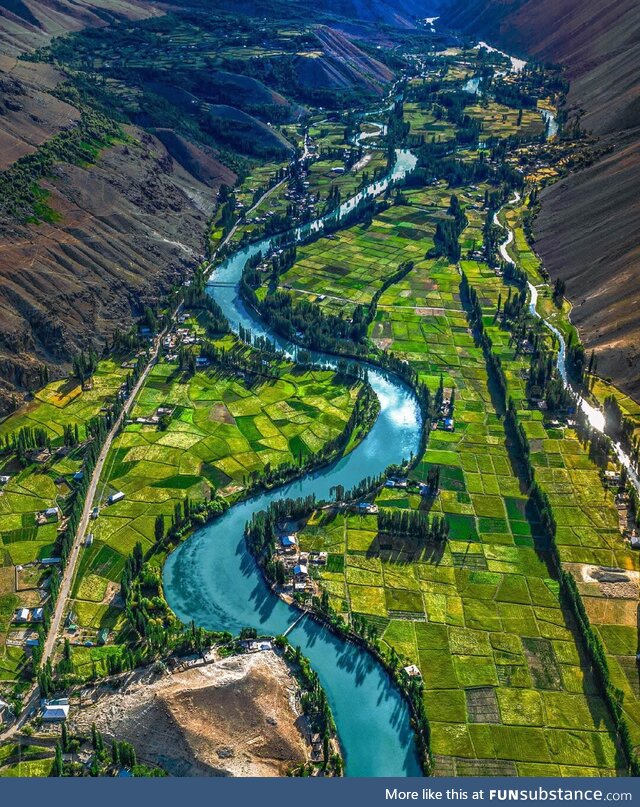
[[[410,152],[397,152],[391,178],[400,179],[415,164]],[[389,179],[375,183],[327,218],[340,218],[363,195],[378,195],[388,184]],[[296,239],[304,240],[310,233],[321,231],[325,221],[300,228]],[[268,336],[289,355],[295,355],[295,346],[270,332],[239,296],[238,284],[247,259],[265,252],[270,245],[271,240],[265,239],[228,258],[215,270],[210,293],[234,331],[242,325],[255,335]],[[312,354],[312,359],[319,365],[336,364],[334,357],[319,353]],[[369,381],[380,400],[380,414],[359,446],[331,466],[236,504],[169,556],[163,572],[165,596],[185,623],[193,620],[209,630],[233,633],[254,627],[261,633],[276,635],[295,622],[299,613],[268,589],[247,551],[244,525],[274,500],[310,493],[328,499],[333,486],[349,489],[418,451],[422,424],[413,392],[393,376],[371,366],[368,370]],[[299,622],[288,638],[310,659],[327,693],[345,756],[346,775],[420,776],[407,704],[373,657],[309,618]]]

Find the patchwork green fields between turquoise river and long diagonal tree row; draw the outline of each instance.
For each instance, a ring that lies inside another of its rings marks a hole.
[[[439,552],[380,535],[375,517],[351,516],[312,522],[301,546],[330,553],[322,578],[336,610],[369,618],[403,663],[419,666],[442,771],[611,774],[618,763],[606,710],[549,576],[484,359],[447,299],[457,273],[444,264],[414,269],[398,285],[423,275],[442,289],[445,313],[434,321],[385,310],[380,321],[392,318],[388,349],[412,363],[421,356],[430,386],[443,371],[456,388],[455,432],[433,432],[415,471],[423,479],[431,464],[442,468],[431,512],[446,514],[448,545]],[[425,506],[387,489],[377,504]]]

